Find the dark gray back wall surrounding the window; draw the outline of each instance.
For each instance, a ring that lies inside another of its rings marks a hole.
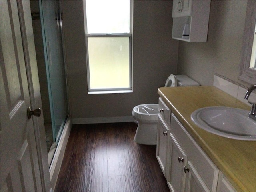
[[[63,1],[64,40],[72,118],[131,116],[138,104],[158,103],[157,89],[177,73],[172,1],[134,1],[133,92],[88,94],[82,1]]]

